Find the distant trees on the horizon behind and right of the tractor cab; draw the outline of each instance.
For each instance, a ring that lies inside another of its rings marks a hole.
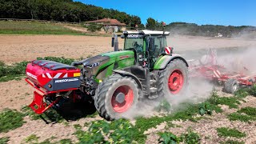
[[[154,20],[154,18],[148,18],[146,21],[146,28],[154,30],[163,30],[162,22]],[[170,34],[185,34],[194,36],[206,36],[206,37],[235,37],[239,35],[245,35],[249,38],[255,38],[256,32],[255,26],[219,26],[219,25],[202,25],[199,26],[195,23],[186,22],[171,22],[166,25],[165,30],[170,31]],[[251,34],[251,35],[250,35]]]

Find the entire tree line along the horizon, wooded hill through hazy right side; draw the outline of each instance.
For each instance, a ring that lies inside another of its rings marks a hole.
[[[37,19],[59,22],[86,22],[102,18],[114,18],[126,23],[128,27],[163,30],[162,22],[154,18],[146,20],[146,26],[141,18],[113,9],[87,5],[73,0],[0,0],[0,18]],[[253,26],[215,26],[186,22],[172,22],[166,25],[171,34],[216,36],[223,37],[250,33],[256,31]]]

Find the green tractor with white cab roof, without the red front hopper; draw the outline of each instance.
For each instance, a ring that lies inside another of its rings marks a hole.
[[[122,118],[137,110],[138,100],[174,97],[186,90],[188,64],[167,47],[169,32],[125,31],[123,50],[117,36],[112,39],[114,52],[87,59],[82,78],[91,78],[96,86],[94,105],[107,120]],[[118,50],[118,51],[117,51]]]

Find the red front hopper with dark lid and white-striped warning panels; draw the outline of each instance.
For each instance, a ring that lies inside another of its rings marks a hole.
[[[81,83],[79,69],[48,60],[30,62],[26,66],[26,77],[46,91],[77,89]]]

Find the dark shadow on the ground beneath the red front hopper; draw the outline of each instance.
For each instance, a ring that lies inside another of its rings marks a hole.
[[[94,102],[64,102],[58,110],[50,109],[40,117],[44,122],[57,123],[63,120],[76,121],[80,118],[94,118],[98,115]]]

